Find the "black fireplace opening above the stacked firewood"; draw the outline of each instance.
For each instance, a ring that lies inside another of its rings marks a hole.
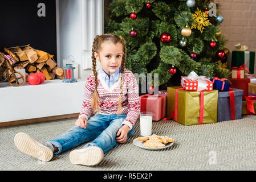
[[[46,16],[38,16],[39,3],[46,5]],[[55,0],[0,1],[0,51],[3,47],[31,47],[56,57]]]

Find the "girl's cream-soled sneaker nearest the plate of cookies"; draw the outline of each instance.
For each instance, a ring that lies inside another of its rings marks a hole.
[[[104,153],[100,147],[86,147],[70,152],[70,162],[84,166],[95,166],[103,159]]]

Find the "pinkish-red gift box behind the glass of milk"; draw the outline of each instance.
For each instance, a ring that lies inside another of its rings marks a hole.
[[[152,113],[152,120],[159,121],[166,115],[166,91],[159,91],[159,94],[145,94],[140,96],[140,111]]]

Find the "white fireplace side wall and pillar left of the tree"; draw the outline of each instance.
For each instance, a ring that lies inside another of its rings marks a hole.
[[[91,73],[91,48],[96,35],[103,34],[103,0],[57,0],[59,63],[74,56],[79,78]],[[99,67],[99,64],[97,64]]]

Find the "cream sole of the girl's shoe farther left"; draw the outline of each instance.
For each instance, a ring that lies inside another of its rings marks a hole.
[[[25,133],[18,133],[14,137],[15,146],[24,154],[30,155],[36,159],[48,162],[53,157],[53,152],[50,148],[37,142]]]

